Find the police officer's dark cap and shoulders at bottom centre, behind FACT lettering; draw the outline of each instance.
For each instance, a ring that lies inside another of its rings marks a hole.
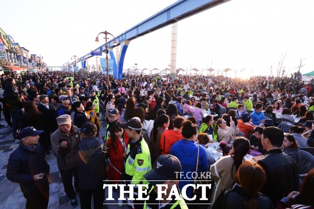
[[[144,178],[153,185],[148,192],[149,199],[145,201],[144,209],[187,209],[181,194],[182,200],[175,200],[174,197],[170,201],[167,200],[173,185],[177,187],[177,191],[180,193],[178,184],[181,171],[181,163],[176,156],[162,154],[157,158],[154,168],[144,175]],[[163,200],[156,200],[158,193],[157,184],[168,185],[167,188],[161,187],[162,191],[167,190],[165,194],[161,195]]]

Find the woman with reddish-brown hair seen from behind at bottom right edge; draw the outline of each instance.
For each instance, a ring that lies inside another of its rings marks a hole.
[[[260,191],[266,182],[262,166],[252,161],[244,161],[235,175],[235,186],[221,194],[212,209],[272,209],[270,199]],[[222,200],[222,201],[221,201]]]

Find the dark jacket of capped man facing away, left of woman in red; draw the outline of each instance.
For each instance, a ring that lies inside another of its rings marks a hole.
[[[96,189],[107,179],[105,155],[98,137],[84,138],[74,146],[78,166],[78,185],[82,189]]]

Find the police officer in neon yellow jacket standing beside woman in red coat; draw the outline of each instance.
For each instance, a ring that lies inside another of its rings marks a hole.
[[[131,141],[128,145],[125,170],[121,175],[121,178],[126,181],[127,184],[135,184],[134,198],[137,198],[137,184],[148,184],[144,180],[144,175],[152,169],[151,166],[151,154],[147,143],[142,136],[142,123],[137,117],[130,119],[126,123],[120,124],[121,128],[126,129]],[[144,201],[134,200],[135,209],[143,209]]]

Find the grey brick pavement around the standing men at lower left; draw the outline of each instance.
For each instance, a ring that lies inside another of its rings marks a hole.
[[[0,90],[2,95],[3,90]],[[3,114],[1,113],[1,118],[4,119]],[[101,117],[100,117],[101,118]],[[9,181],[6,178],[6,168],[8,158],[12,151],[14,151],[19,146],[19,140],[15,140],[12,137],[12,128],[7,126],[5,120],[0,120],[0,123],[6,125],[5,127],[0,128],[0,209],[24,209],[26,199],[21,192],[20,186],[18,183]],[[102,123],[101,135],[105,136],[105,124]],[[46,157],[48,164],[50,165],[50,198],[48,209],[72,209],[70,206],[70,201],[67,198],[62,179],[59,174],[59,170],[56,163],[56,157],[51,153]],[[107,196],[107,191],[105,192]],[[126,202],[123,207],[118,206],[116,192],[113,193],[115,201],[107,201],[108,205],[104,205],[104,209],[129,209]],[[77,195],[78,207],[79,209],[79,197]]]

